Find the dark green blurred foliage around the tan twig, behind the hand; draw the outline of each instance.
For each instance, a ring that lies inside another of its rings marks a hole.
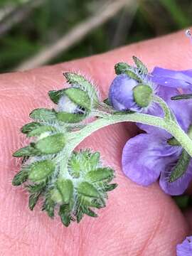
[[[10,4],[20,7],[23,0],[0,0],[0,11]],[[57,41],[80,21],[94,14],[97,4],[98,0],[44,0],[24,21],[0,37],[0,73],[12,70],[41,51],[43,46]],[[99,4],[102,4],[102,0]],[[186,28],[192,23],[191,17],[191,0],[138,1],[134,14],[129,9],[119,11],[110,21],[93,30],[84,40],[50,63],[102,53],[117,46]]]

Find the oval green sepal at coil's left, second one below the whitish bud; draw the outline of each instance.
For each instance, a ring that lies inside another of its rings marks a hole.
[[[29,168],[28,179],[33,182],[41,183],[46,181],[55,170],[55,164],[51,160],[36,161]]]

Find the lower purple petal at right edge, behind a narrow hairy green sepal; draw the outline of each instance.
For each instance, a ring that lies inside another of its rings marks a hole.
[[[175,162],[173,161],[172,164],[175,164]],[[188,184],[191,182],[192,163],[188,165],[188,169],[186,170],[186,173],[183,174],[183,176],[181,176],[174,182],[169,182],[169,176],[171,174],[171,169],[173,168],[172,164],[169,164],[169,166],[166,166],[165,170],[162,170],[159,184],[163,191],[165,191],[169,195],[178,196],[186,191],[186,188],[188,188]]]

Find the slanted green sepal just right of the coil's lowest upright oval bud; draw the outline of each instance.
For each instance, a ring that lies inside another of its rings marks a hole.
[[[77,188],[78,193],[83,196],[90,196],[93,198],[100,198],[100,193],[97,191],[97,188],[87,181],[82,181]]]

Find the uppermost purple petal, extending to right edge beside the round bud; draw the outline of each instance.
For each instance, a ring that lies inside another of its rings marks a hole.
[[[168,70],[156,67],[151,73],[151,81],[167,87],[192,87],[192,70]]]

